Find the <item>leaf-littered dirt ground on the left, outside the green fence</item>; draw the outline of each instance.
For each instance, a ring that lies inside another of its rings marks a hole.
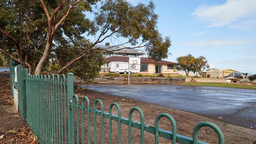
[[[15,112],[9,73],[0,72],[0,144],[37,144],[37,138]]]

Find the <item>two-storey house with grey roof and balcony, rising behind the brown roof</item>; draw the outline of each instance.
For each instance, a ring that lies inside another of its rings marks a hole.
[[[96,44],[95,47],[100,48],[103,52],[103,57],[111,57],[111,56],[126,56],[126,57],[143,57],[145,55],[144,52],[140,52],[137,49],[131,49],[127,46],[110,46],[109,42],[103,44]]]

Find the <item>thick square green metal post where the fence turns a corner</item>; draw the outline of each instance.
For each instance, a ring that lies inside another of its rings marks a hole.
[[[68,139],[69,144],[74,144],[74,83],[73,83],[73,73],[70,72],[67,74],[67,91],[68,91]]]

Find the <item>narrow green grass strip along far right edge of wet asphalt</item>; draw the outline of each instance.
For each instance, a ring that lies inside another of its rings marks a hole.
[[[197,85],[197,86],[208,86],[208,87],[231,87],[240,89],[256,89],[256,86],[252,85],[239,85],[232,83],[181,83],[180,85]]]

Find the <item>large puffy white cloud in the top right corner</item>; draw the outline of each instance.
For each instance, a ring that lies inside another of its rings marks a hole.
[[[243,28],[250,24],[256,27],[256,0],[228,0],[225,4],[197,7],[192,13],[198,20],[207,22],[209,27],[228,26]]]

